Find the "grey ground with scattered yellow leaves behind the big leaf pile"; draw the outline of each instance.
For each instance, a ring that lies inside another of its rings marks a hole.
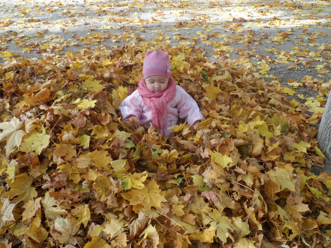
[[[10,0],[0,2],[0,62],[58,58],[149,41],[201,46],[320,115],[330,85],[330,1]],[[318,124],[315,121],[314,124]]]

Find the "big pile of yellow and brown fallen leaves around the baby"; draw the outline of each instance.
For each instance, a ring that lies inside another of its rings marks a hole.
[[[118,105],[150,46],[1,65],[1,247],[329,247],[331,176],[310,172],[320,116],[244,67],[163,44],[206,120],[133,131]]]

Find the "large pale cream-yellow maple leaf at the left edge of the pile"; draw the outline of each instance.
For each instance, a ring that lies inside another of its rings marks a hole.
[[[20,147],[22,138],[26,133],[23,130],[19,130],[23,125],[23,121],[19,121],[16,117],[12,118],[8,122],[0,123],[0,129],[3,130],[0,133],[0,141],[5,140],[6,155],[9,155],[14,147]]]

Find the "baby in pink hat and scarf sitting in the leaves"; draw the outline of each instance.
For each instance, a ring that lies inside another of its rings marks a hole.
[[[148,51],[143,64],[143,79],[138,89],[119,105],[123,119],[132,119],[133,128],[150,123],[160,128],[164,136],[170,136],[170,127],[183,118],[195,129],[205,118],[194,99],[176,85],[171,76],[169,55],[162,51]]]

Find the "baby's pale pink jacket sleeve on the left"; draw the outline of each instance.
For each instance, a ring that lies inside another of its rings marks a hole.
[[[139,94],[132,93],[130,96],[125,98],[121,104],[119,104],[118,109],[122,114],[123,120],[130,116],[136,116],[140,120],[142,113],[142,106],[138,101]]]

